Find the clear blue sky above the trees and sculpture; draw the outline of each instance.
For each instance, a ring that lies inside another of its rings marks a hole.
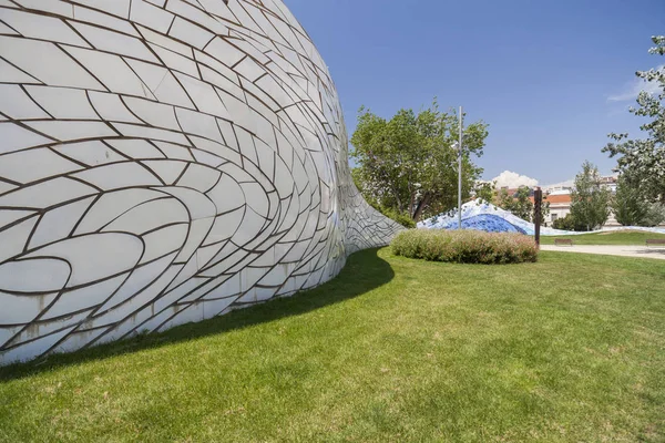
[[[584,159],[610,173],[606,134],[638,135],[634,72],[665,62],[647,52],[665,0],[285,1],[330,68],[349,134],[362,104],[390,117],[438,96],[490,124],[484,178],[545,185]]]

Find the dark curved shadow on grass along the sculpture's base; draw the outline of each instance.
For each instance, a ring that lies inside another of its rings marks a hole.
[[[102,344],[73,353],[53,354],[28,363],[0,368],[0,383],[71,364],[103,360],[114,356],[243,329],[285,317],[299,316],[355,298],[386,285],[395,277],[390,265],[381,259],[377,251],[378,249],[368,249],[351,255],[339,276],[318,288],[296,293],[293,297],[275,299],[263,305],[233,311],[211,320],[183,324],[166,332],[142,334],[129,340]]]

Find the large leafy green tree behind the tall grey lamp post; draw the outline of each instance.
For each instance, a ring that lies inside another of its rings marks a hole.
[[[419,113],[400,110],[385,120],[360,109],[351,143],[351,157],[358,164],[356,181],[368,202],[408,214],[418,222],[457,206],[459,120],[454,112],[431,107]],[[483,153],[488,125],[483,122],[464,128],[462,154],[462,196],[469,199],[482,169],[472,157]]]

